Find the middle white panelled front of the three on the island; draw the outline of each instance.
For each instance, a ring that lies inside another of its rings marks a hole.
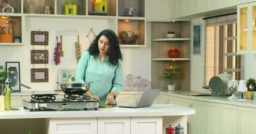
[[[98,134],[130,134],[130,117],[98,117]]]

